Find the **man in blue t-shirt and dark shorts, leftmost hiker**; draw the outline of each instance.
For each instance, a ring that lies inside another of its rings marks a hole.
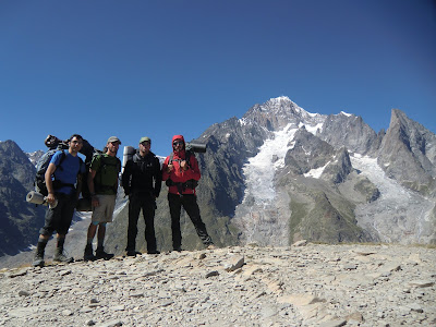
[[[59,150],[53,154],[45,173],[49,207],[46,211],[45,226],[39,231],[40,235],[33,262],[35,267],[44,266],[45,249],[53,231],[57,231],[53,261],[58,263],[72,263],[74,261],[74,258],[64,255],[63,244],[81,192],[81,174],[85,172],[85,165],[77,156],[83,146],[83,137],[73,134],[68,141],[68,146],[66,153]],[[58,204],[55,206],[56,202]]]

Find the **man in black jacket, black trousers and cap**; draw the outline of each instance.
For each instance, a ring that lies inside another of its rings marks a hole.
[[[125,195],[129,195],[129,228],[128,256],[141,255],[136,251],[137,220],[141,209],[145,221],[145,240],[148,254],[159,254],[155,235],[155,209],[156,198],[159,197],[162,172],[159,159],[150,152],[152,140],[147,136],[141,137],[140,148],[128,160],[122,174],[122,185]]]

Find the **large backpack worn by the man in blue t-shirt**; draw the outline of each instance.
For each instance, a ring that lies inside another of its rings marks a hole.
[[[44,154],[43,157],[39,158],[38,162],[36,164],[36,174],[35,174],[35,183],[34,183],[35,191],[43,194],[44,196],[48,195],[48,190],[47,190],[47,185],[46,185],[46,171],[47,171],[48,166],[50,165],[51,158],[55,156],[55,154],[57,152],[62,152],[62,155],[61,155],[61,159],[59,160],[59,165],[56,167],[56,169],[63,170],[62,162],[66,158],[66,155],[62,150],[62,148],[49,149],[47,153]],[[80,159],[81,166],[82,166],[82,164],[83,164],[82,158],[78,158],[78,159]],[[53,181],[55,190],[60,189],[65,185],[74,187],[74,185],[62,183],[60,181],[57,181],[55,178],[55,181]]]

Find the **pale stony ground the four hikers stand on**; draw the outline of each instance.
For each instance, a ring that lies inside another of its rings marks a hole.
[[[436,326],[436,250],[226,247],[0,270],[2,326]]]

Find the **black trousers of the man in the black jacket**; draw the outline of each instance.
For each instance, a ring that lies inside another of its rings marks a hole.
[[[125,251],[136,250],[137,220],[141,209],[145,221],[145,241],[147,251],[156,251],[155,209],[156,201],[150,193],[133,193],[129,196],[129,229]]]

